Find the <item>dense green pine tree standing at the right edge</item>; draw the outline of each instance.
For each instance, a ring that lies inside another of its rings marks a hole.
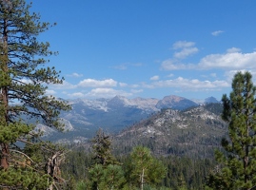
[[[249,72],[238,72],[232,82],[229,98],[223,96],[223,119],[228,123],[228,139],[217,151],[221,168],[209,176],[213,189],[256,188],[256,87]]]

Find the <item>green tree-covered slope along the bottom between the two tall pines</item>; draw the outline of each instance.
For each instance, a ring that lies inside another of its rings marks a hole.
[[[62,165],[64,176],[73,179],[76,189],[112,186],[113,189],[203,190],[207,175],[215,166],[213,159],[155,156],[145,146],[136,146],[126,155],[116,155],[112,144],[107,148],[111,156],[107,151],[106,158],[116,158],[115,163],[104,165],[96,159],[98,153],[93,144],[91,149],[83,144],[71,146],[72,151]]]

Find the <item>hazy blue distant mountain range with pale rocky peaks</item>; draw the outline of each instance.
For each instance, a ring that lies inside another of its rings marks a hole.
[[[213,97],[204,101],[192,101],[174,95],[166,96],[162,100],[154,98],[128,99],[123,96],[115,96],[112,99],[69,100],[72,110],[61,114],[69,133],[56,133],[52,129],[48,130],[48,127],[42,124],[38,124],[37,129],[45,131],[52,141],[56,139],[76,141],[77,138],[80,141],[94,136],[99,127],[111,133],[118,133],[161,109],[185,110],[189,107],[209,103],[219,102]]]

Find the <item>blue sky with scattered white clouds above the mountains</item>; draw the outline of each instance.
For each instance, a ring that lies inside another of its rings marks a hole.
[[[66,80],[48,93],[64,99],[220,100],[236,71],[256,74],[255,0],[34,0],[32,11],[57,23],[39,40],[59,51],[49,66]]]

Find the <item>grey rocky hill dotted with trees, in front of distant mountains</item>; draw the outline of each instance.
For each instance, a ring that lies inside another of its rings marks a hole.
[[[214,149],[226,136],[221,112],[222,104],[185,111],[162,109],[118,134],[113,142],[115,151],[126,154],[133,146],[143,144],[155,155],[213,158]]]

